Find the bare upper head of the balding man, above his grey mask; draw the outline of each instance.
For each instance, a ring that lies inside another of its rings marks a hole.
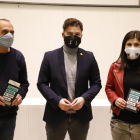
[[[7,33],[14,34],[13,25],[7,19],[0,19],[0,36],[3,36]]]

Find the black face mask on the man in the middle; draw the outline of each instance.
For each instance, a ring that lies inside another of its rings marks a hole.
[[[64,42],[69,48],[77,48],[81,43],[81,38],[78,36],[64,36]]]

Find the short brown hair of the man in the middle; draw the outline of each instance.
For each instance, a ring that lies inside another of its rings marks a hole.
[[[76,18],[68,18],[64,21],[63,24],[63,31],[65,31],[69,26],[79,26],[80,29],[83,31],[83,24],[80,20]]]

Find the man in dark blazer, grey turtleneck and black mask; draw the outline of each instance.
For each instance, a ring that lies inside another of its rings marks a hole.
[[[64,140],[67,131],[71,140],[87,137],[91,101],[101,89],[101,80],[93,53],[78,47],[82,31],[79,20],[65,20],[63,47],[44,55],[37,86],[47,100],[43,120],[48,140]]]

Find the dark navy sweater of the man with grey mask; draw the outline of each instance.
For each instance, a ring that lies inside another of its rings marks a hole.
[[[24,56],[14,48],[10,48],[8,53],[0,53],[0,96],[9,80],[20,83],[19,94],[22,99],[28,91],[27,71]],[[6,107],[0,105],[0,119],[10,119],[16,115],[17,106]]]

